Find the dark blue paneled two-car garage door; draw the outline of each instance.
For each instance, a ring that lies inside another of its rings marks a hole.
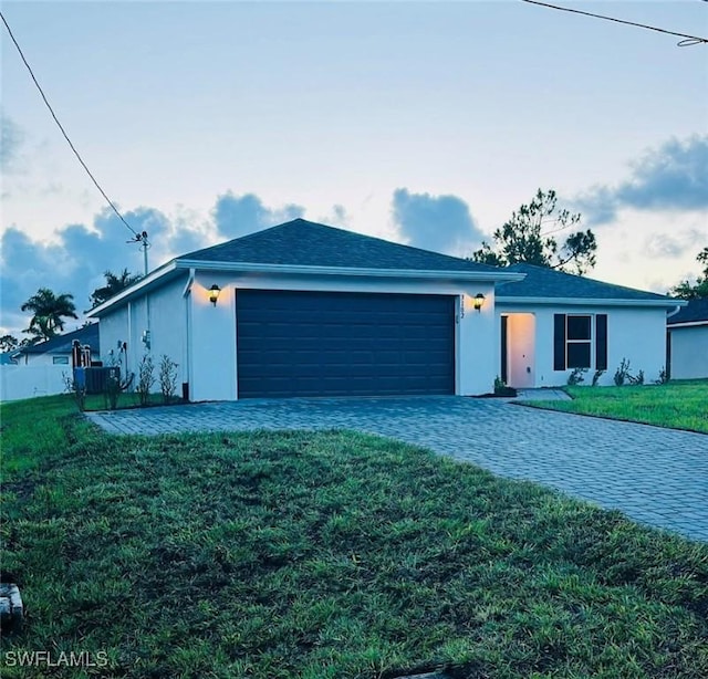
[[[455,393],[455,297],[239,290],[239,398]]]

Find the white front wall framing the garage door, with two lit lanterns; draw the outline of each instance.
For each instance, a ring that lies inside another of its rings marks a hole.
[[[211,285],[221,293],[217,305],[208,299]],[[190,398],[192,400],[233,400],[237,394],[237,289],[312,290],[329,292],[379,292],[418,294],[466,294],[465,313],[458,313],[456,347],[456,393],[475,395],[491,391],[498,373],[498,332],[494,326],[493,285],[452,281],[409,281],[360,276],[288,276],[267,274],[225,274],[197,272],[191,286],[187,334],[191,352]],[[472,297],[482,293],[486,302],[480,312]],[[154,310],[153,310],[153,317]],[[155,334],[156,337],[156,334]],[[157,341],[157,340],[156,340]]]

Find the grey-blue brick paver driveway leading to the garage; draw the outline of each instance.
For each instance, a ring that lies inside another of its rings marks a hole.
[[[369,431],[708,541],[708,436],[455,396],[244,400],[88,417],[113,433]]]

